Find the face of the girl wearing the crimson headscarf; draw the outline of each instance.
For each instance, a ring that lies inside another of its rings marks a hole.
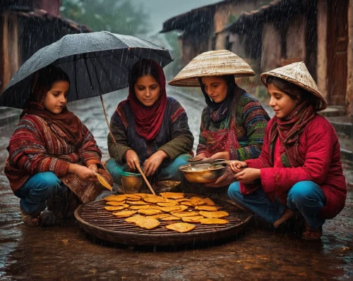
[[[144,106],[152,106],[160,97],[160,84],[152,75],[138,77],[133,88],[136,98]]]

